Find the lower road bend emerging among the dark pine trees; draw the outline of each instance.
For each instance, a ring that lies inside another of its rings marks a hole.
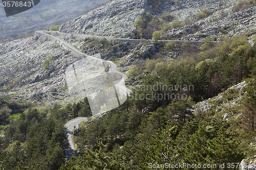
[[[68,161],[71,158],[71,156],[75,156],[75,146],[71,136],[72,131],[74,130],[74,126],[77,127],[78,124],[80,124],[85,120],[87,120],[87,117],[78,117],[70,120],[65,124],[66,126],[65,132],[68,133],[68,139],[69,139],[69,146],[65,149],[66,161]]]

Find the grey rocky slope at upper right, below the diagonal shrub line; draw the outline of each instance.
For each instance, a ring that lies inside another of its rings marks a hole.
[[[231,13],[226,10],[224,15],[226,17],[222,17],[220,14],[221,11],[214,13],[212,16],[209,16],[205,19],[197,21],[195,24],[191,24],[188,26],[184,26],[182,28],[177,28],[172,31],[168,31],[168,34],[173,37],[179,38],[180,32],[187,32],[193,29],[194,25],[198,25],[201,27],[201,31],[198,31],[195,34],[188,34],[180,40],[204,40],[206,37],[212,37],[215,40],[219,40],[222,35],[227,35],[228,37],[234,35],[248,35],[251,43],[254,43],[255,33],[255,22],[256,22],[256,7],[251,7],[244,11],[239,11],[237,13]]]

